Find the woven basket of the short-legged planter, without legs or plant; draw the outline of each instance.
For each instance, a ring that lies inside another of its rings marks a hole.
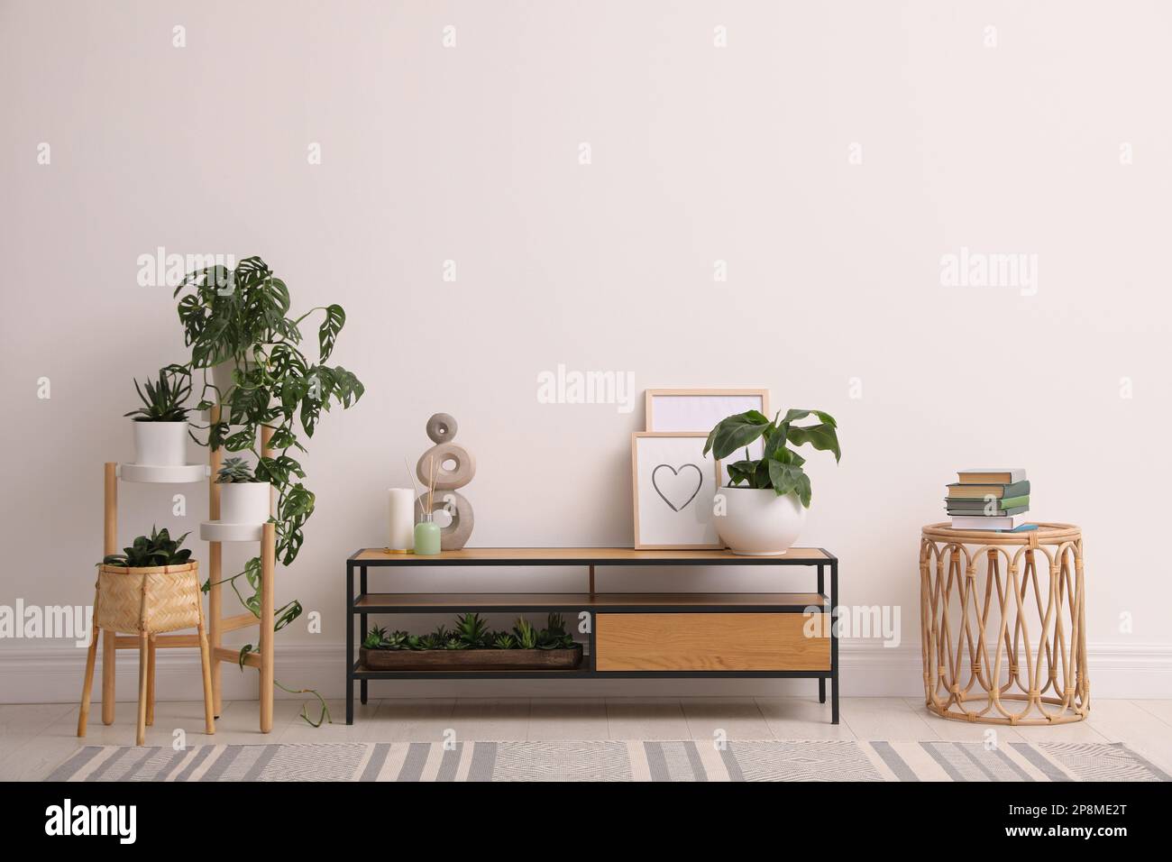
[[[97,568],[94,624],[116,632],[161,632],[203,624],[199,563]]]

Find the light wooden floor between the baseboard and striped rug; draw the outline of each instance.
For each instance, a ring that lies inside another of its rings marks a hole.
[[[216,735],[205,737],[199,701],[161,703],[146,745],[170,746],[177,728],[188,745],[263,742],[438,741],[447,729],[465,740],[558,739],[865,739],[888,741],[983,740],[983,725],[929,715],[918,699],[844,698],[841,724],[815,698],[607,699],[400,699],[355,704],[354,725],[341,724],[342,701],[331,701],[338,724],[313,728],[300,701],[278,700],[273,732],[257,732],[257,703],[226,703]],[[82,745],[134,742],[132,703],[118,704],[114,725],[91,713],[84,740],[74,733],[77,706],[0,706],[0,780],[36,781]],[[999,741],[1125,742],[1172,773],[1172,700],[1095,700],[1086,721],[1057,727],[997,727]]]

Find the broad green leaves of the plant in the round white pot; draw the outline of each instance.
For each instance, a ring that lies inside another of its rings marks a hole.
[[[832,452],[837,462],[843,454],[838,446],[838,425],[833,416],[822,410],[789,410],[784,419],[781,416],[778,412],[770,421],[758,410],[749,410],[722,419],[704,442],[704,455],[711,452],[723,461],[737,449],[762,437],[764,446],[759,459],[750,459],[745,448],[744,460],[725,464],[729,487],[744,483],[749,488],[772,488],[777,496],[796,494],[802,505],[809,509],[810,477],[802,469],[805,459],[789,444],[809,443],[815,449]],[[809,416],[817,418],[818,423],[793,425]]]

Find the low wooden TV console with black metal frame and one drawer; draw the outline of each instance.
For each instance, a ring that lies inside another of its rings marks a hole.
[[[404,593],[370,592],[370,569],[437,566],[579,566],[587,592]],[[769,565],[817,570],[817,592],[600,593],[597,566]],[[825,576],[830,573],[830,596]],[[355,592],[355,573],[357,592]],[[354,724],[354,683],[362,703],[372,679],[646,679],[766,677],[818,680],[831,721],[838,724],[838,558],[820,548],[791,548],[777,557],[742,557],[727,550],[632,550],[629,548],[465,548],[434,556],[356,551],[346,561],[346,724]],[[558,670],[373,670],[355,660],[354,632],[366,638],[372,615],[526,613],[559,611],[573,631],[588,622],[581,665]],[[812,617],[818,617],[812,619]]]

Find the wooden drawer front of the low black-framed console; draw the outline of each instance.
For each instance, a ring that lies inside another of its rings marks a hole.
[[[597,667],[829,671],[830,638],[806,637],[808,624],[804,613],[598,613]]]

